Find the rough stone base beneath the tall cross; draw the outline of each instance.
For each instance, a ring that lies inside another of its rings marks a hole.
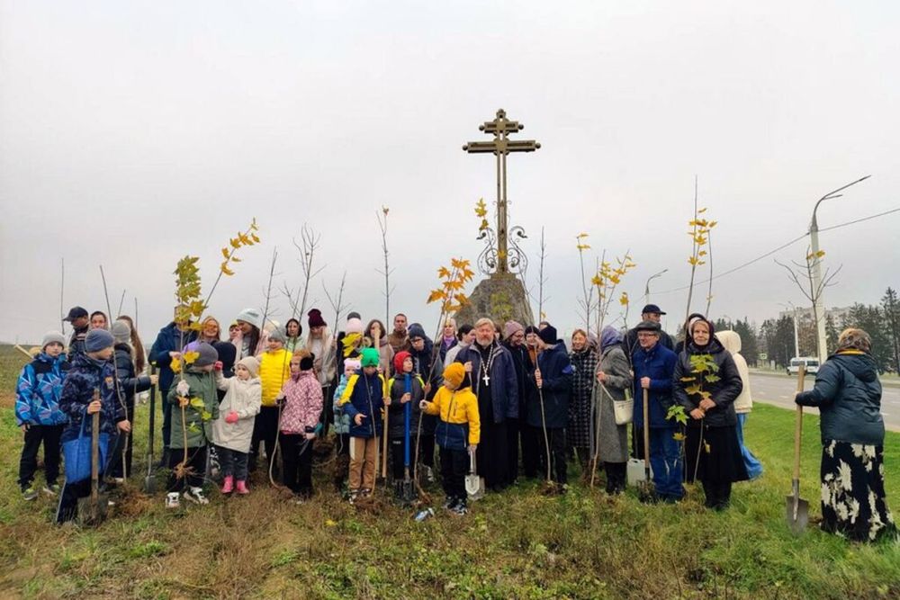
[[[488,317],[500,325],[514,320],[523,327],[536,325],[522,281],[512,273],[493,273],[475,286],[469,302],[456,313],[456,326],[474,325],[479,318]]]

